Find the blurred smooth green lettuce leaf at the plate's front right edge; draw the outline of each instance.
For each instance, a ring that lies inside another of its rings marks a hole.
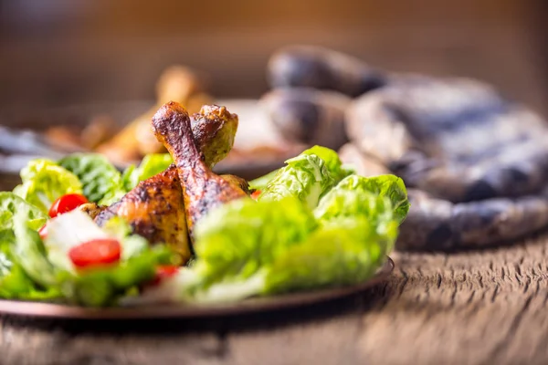
[[[364,218],[331,224],[280,255],[265,273],[259,294],[340,287],[374,276],[394,244],[397,225],[378,235]]]

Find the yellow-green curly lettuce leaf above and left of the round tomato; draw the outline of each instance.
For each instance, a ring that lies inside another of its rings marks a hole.
[[[56,162],[45,159],[28,162],[21,170],[21,180],[23,183],[16,186],[14,193],[44,213],[60,196],[82,193],[82,183],[78,176]]]

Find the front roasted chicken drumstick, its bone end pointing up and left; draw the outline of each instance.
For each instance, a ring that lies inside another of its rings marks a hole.
[[[234,118],[224,107],[211,107],[221,119]],[[227,182],[205,162],[195,144],[188,113],[176,102],[168,102],[153,117],[153,131],[172,155],[183,185],[186,222],[192,238],[195,223],[216,206],[247,196]]]

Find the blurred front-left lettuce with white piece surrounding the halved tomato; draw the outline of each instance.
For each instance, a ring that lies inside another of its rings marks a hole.
[[[101,230],[78,210],[61,214],[49,221],[47,239],[42,241],[26,218],[25,210],[18,211],[12,220],[13,235],[0,237],[1,297],[112,305],[136,293],[139,285],[153,279],[157,266],[170,265],[174,259],[166,247],[151,247],[140,236],[126,235],[130,228],[120,220]],[[68,228],[75,226],[78,230]],[[68,260],[70,248],[104,237],[121,239],[120,262],[76,269]]]

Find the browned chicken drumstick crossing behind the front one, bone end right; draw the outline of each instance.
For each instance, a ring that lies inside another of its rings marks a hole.
[[[203,153],[205,169],[209,170],[231,150],[237,130],[237,116],[222,107],[204,106],[192,116],[190,123],[192,144]],[[181,139],[182,136],[177,138]],[[248,192],[245,180],[233,175],[223,175],[223,178],[233,184],[235,190]],[[93,216],[97,215],[95,221],[100,225],[114,216],[121,216],[132,226],[134,233],[142,235],[153,244],[171,245],[185,262],[191,250],[188,245],[183,189],[179,172],[173,164],[165,172],[139,183],[110,207],[93,207]]]

